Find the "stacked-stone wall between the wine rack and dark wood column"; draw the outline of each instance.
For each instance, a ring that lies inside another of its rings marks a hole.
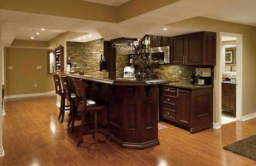
[[[67,42],[67,57],[73,66],[80,67],[75,72],[84,71],[84,74],[96,75],[99,71],[100,55],[103,55],[103,39],[90,42]],[[97,52],[97,53],[90,53]]]

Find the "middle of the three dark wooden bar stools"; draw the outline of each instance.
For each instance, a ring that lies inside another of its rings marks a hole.
[[[81,120],[81,116],[79,116],[79,112],[76,111],[75,93],[71,78],[60,76],[60,80],[62,82],[64,96],[70,102],[69,122],[67,126],[69,127],[71,124],[70,133],[72,133],[74,130],[75,120]],[[80,97],[79,100],[82,101],[82,97]]]

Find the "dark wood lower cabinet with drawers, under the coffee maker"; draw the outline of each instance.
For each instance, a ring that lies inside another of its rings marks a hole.
[[[162,120],[197,133],[213,127],[213,88],[161,86]]]

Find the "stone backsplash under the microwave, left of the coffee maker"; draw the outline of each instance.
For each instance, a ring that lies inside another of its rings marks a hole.
[[[158,73],[160,79],[168,79],[169,81],[190,82],[190,73],[195,71],[195,66],[159,64],[161,70]]]

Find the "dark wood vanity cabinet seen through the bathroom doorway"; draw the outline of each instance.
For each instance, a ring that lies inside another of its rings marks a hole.
[[[222,83],[222,109],[230,111],[236,117],[236,84]]]

